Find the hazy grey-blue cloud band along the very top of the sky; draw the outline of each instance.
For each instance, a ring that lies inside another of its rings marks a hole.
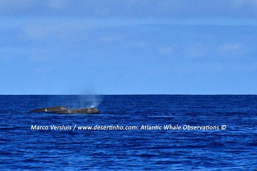
[[[53,10],[54,9],[54,10]],[[2,0],[2,16],[41,17],[166,17],[174,18],[255,18],[257,2],[254,0],[162,0],[162,1],[39,1]]]

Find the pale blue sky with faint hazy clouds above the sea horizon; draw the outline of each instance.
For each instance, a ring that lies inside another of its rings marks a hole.
[[[0,94],[257,94],[257,1],[0,1]]]

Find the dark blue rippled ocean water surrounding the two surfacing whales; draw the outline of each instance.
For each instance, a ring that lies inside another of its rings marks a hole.
[[[51,106],[100,114],[29,113]],[[254,170],[256,95],[0,96],[3,170]],[[31,130],[31,125],[49,126]],[[138,130],[51,130],[55,126],[139,126]],[[142,125],[218,130],[140,130]],[[226,125],[222,130],[221,126]]]

